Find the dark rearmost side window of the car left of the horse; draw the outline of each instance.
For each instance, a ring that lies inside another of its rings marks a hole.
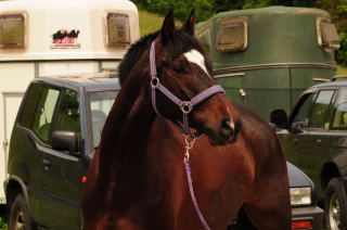
[[[34,84],[30,86],[25,102],[23,104],[22,112],[20,114],[20,125],[26,128],[30,128],[37,102],[40,99],[42,92],[42,86]]]

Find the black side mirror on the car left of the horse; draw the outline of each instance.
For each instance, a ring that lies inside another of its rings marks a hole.
[[[52,148],[56,151],[66,151],[73,156],[80,156],[78,136],[73,131],[54,131]]]

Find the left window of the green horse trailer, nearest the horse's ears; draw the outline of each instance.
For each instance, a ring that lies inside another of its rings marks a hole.
[[[244,50],[247,47],[247,22],[232,20],[222,22],[217,35],[217,50],[222,52]]]

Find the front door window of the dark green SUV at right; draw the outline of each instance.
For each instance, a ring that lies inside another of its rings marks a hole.
[[[322,90],[318,93],[312,107],[311,116],[309,118],[309,128],[329,128],[329,120],[326,119],[326,115],[334,92],[334,90]]]

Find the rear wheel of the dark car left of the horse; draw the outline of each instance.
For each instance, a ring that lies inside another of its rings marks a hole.
[[[33,230],[29,206],[22,193],[17,194],[11,205],[9,230]]]

